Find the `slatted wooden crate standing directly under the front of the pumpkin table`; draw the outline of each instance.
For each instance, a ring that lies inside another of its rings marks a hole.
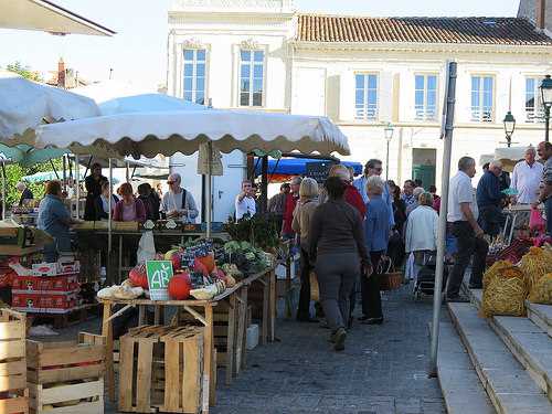
[[[198,413],[202,381],[202,328],[142,326],[120,338],[119,411]]]

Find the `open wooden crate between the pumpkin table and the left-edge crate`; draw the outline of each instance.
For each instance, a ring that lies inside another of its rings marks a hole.
[[[78,341],[26,341],[31,414],[104,413],[105,338],[79,333]]]

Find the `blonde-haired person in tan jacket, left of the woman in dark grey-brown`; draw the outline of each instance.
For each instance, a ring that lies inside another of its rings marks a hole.
[[[318,206],[318,182],[311,178],[305,178],[299,185],[299,202],[294,211],[291,229],[300,236],[301,289],[299,291],[299,305],[297,307],[297,320],[300,322],[318,322],[310,317],[310,261],[309,261],[309,229],[315,209]]]

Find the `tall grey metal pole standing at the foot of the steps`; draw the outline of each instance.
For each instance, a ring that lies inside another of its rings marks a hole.
[[[443,177],[440,182],[439,231],[437,237],[437,268],[433,294],[432,346],[429,355],[429,376],[437,374],[437,350],[439,343],[439,319],[443,291],[443,270],[445,268],[445,243],[448,212],[448,180],[450,178],[450,157],[453,151],[454,108],[456,102],[456,62],[448,63],[448,83],[446,91],[445,148],[443,152]]]

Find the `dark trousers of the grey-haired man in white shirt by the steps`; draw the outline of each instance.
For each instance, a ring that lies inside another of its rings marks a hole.
[[[460,291],[464,274],[469,265],[471,256],[474,256],[474,267],[471,269],[469,283],[474,285],[481,284],[487,252],[489,251],[488,243],[481,237],[476,237],[476,233],[468,222],[454,222],[453,235],[457,241],[458,253],[456,254],[453,272],[448,278],[448,297],[456,296]]]

